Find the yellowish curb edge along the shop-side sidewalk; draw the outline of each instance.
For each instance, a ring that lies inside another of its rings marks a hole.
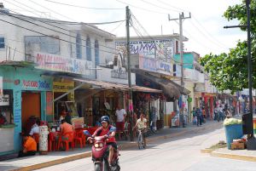
[[[212,127],[216,127],[216,126],[217,126],[217,124],[213,124],[213,125],[211,125],[207,128],[212,128]],[[194,128],[192,130],[191,129],[190,130],[184,130],[184,131],[181,131],[179,133],[155,136],[155,137],[152,137],[152,138],[148,138],[148,142],[154,142],[155,140],[160,140],[160,139],[166,140],[166,139],[170,139],[170,138],[180,136],[180,135],[183,135],[183,134],[193,133],[193,132],[198,131],[198,130],[205,130],[207,128],[199,127],[199,128]],[[134,147],[134,146],[137,146],[137,142],[124,143],[124,144],[119,145],[119,150],[128,149],[128,148],[131,148],[131,147]],[[81,153],[79,155],[64,157],[64,158],[56,159],[56,160],[49,161],[49,162],[38,163],[38,164],[35,164],[35,165],[26,166],[26,167],[22,167],[22,168],[10,169],[9,171],[31,171],[31,170],[35,170],[35,169],[39,169],[39,168],[47,168],[47,167],[54,166],[54,165],[57,165],[57,164],[61,164],[61,163],[64,163],[64,162],[72,162],[74,160],[79,160],[79,159],[82,159],[82,158],[85,158],[85,157],[91,157],[91,152],[88,151],[88,152]],[[256,162],[256,158],[255,158],[255,162]]]

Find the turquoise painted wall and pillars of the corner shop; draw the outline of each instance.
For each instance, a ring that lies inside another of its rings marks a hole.
[[[0,66],[0,76],[3,77],[3,89],[13,89],[15,151],[21,147],[21,92],[26,90],[41,92],[41,119],[46,119],[46,92],[52,91],[52,80],[42,77],[42,71],[33,68]]]

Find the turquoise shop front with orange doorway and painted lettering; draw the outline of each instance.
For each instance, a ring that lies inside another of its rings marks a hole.
[[[52,114],[49,95],[52,91],[50,78],[42,77],[41,71],[22,64],[1,66],[3,96],[1,105],[5,122],[0,125],[0,155],[20,150],[21,133],[27,133],[36,118],[47,121]]]

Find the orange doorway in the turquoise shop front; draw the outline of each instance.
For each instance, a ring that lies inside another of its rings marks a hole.
[[[22,92],[21,97],[21,126],[28,133],[36,118],[41,118],[41,94]]]

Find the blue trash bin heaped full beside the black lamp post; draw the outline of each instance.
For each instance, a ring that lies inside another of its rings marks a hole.
[[[231,143],[235,139],[241,139],[242,137],[242,125],[241,124],[232,124],[232,125],[226,125],[225,128],[225,134],[226,134],[226,140],[227,140],[227,146],[228,149],[231,149]]]

